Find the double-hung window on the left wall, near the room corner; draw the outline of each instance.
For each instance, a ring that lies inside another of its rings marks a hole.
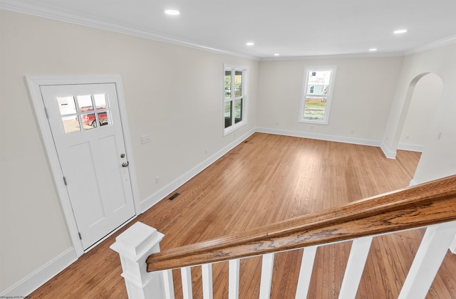
[[[224,65],[224,135],[245,124],[246,68]]]

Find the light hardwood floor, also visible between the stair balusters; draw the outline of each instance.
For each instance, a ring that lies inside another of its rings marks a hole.
[[[166,250],[408,187],[419,159],[416,152],[386,159],[378,147],[255,133],[135,221],[165,234]],[[109,248],[121,231],[31,298],[126,298],[120,260]],[[421,229],[375,237],[356,298],[397,298],[422,236]],[[318,248],[308,298],[338,297],[350,248],[350,241]],[[276,254],[271,298],[294,298],[301,256]],[[241,261],[239,298],[258,298],[260,271],[261,258]],[[180,273],[173,274],[182,298]],[[200,277],[192,268],[194,298],[202,298]],[[227,298],[227,278],[227,263],[214,264],[214,298]],[[455,285],[456,255],[449,252],[427,298],[456,298]]]

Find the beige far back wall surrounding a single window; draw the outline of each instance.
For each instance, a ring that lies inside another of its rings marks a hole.
[[[402,57],[261,62],[257,127],[381,140],[402,62]],[[298,122],[304,68],[312,65],[337,67],[328,125]]]

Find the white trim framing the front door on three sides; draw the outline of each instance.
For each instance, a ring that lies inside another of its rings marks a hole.
[[[128,127],[128,117],[125,106],[125,98],[123,95],[122,78],[120,75],[97,75],[97,76],[26,76],[26,84],[30,93],[31,103],[35,110],[36,122],[41,131],[43,145],[48,155],[48,163],[53,174],[53,179],[56,184],[58,197],[61,200],[63,214],[66,218],[68,231],[73,243],[73,247],[77,256],[82,256],[84,253],[83,245],[78,235],[76,219],[71,209],[71,201],[66,191],[63,182],[63,173],[58,160],[58,154],[53,142],[51,127],[49,126],[44,108],[43,99],[41,98],[40,86],[43,85],[72,85],[72,84],[96,84],[96,83],[114,83],[117,90],[120,119],[122,120],[123,137],[125,141],[125,150],[128,157],[130,169],[130,183],[133,192],[133,202],[135,204],[136,215],[140,214],[140,198],[138,190],[138,180],[136,178],[135,162],[133,159],[133,147],[130,138],[130,130]],[[93,248],[93,246],[92,246]]]

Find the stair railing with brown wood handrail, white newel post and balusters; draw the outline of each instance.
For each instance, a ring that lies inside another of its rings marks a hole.
[[[204,298],[213,298],[212,265],[228,261],[228,297],[239,298],[239,261],[261,256],[259,298],[270,298],[274,256],[304,248],[295,298],[306,298],[319,246],[352,241],[338,298],[355,298],[374,236],[425,228],[398,298],[425,298],[448,251],[456,247],[456,176],[354,201],[345,206],[239,234],[160,252],[163,235],[140,222],[111,246],[120,254],[129,298],[175,298],[172,269],[180,269],[183,298],[192,298],[192,267],[201,267]],[[180,294],[179,294],[180,295]]]

